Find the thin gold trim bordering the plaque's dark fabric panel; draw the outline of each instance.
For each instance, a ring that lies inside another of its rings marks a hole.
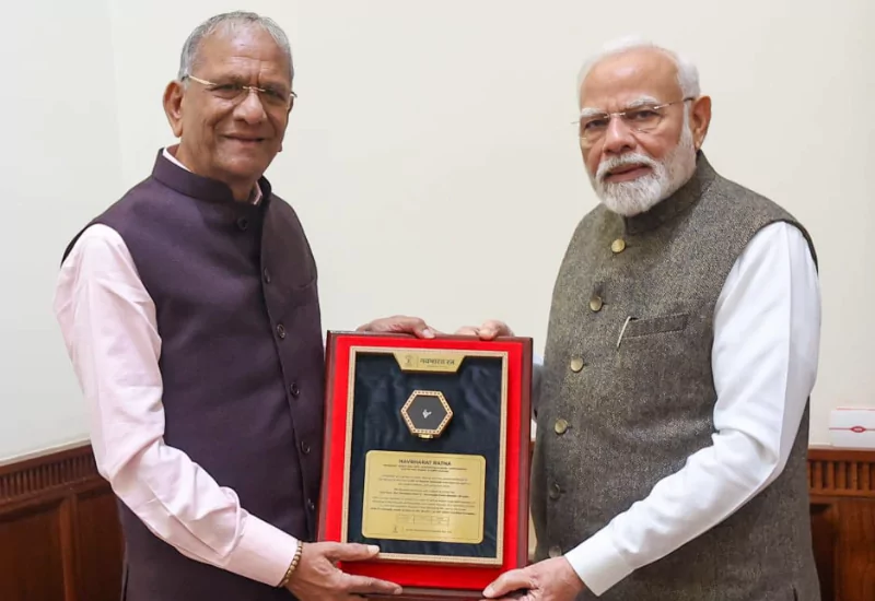
[[[417,357],[433,355],[435,357],[446,357],[448,352],[444,350],[417,349],[413,351]],[[361,354],[382,354],[394,355],[397,360],[404,354],[411,353],[410,349],[397,346],[351,346],[349,357],[349,375],[347,380],[347,438],[343,449],[343,503],[341,516],[340,542],[349,542],[347,535],[349,531],[349,476],[350,460],[352,458],[352,423],[354,413],[354,392],[355,392],[355,364],[357,355]],[[433,563],[433,564],[467,564],[482,566],[500,566],[504,563],[504,481],[506,471],[508,452],[508,351],[451,351],[453,355],[458,355],[462,363],[466,356],[487,356],[501,357],[501,426],[499,440],[499,490],[498,490],[498,516],[495,532],[495,556],[494,557],[468,557],[458,555],[416,555],[407,553],[381,553],[380,559],[392,559],[411,563]],[[400,367],[400,363],[399,363]]]

